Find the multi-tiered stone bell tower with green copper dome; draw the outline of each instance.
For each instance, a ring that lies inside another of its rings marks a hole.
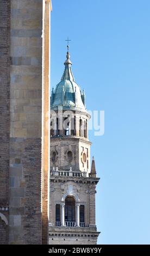
[[[69,48],[69,46],[67,46]],[[85,92],[74,81],[67,51],[61,81],[51,94],[49,244],[96,245],[95,160],[90,147]]]

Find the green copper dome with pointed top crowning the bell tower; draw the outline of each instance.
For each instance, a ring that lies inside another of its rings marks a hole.
[[[65,70],[61,81],[57,84],[55,90],[52,89],[51,109],[57,110],[61,106],[63,109],[85,110],[85,94],[84,91],[82,93],[78,84],[74,82],[69,52],[67,52],[66,57]]]

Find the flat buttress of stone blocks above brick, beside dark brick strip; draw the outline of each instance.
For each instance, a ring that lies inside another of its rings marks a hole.
[[[10,244],[41,244],[42,0],[11,0]]]

